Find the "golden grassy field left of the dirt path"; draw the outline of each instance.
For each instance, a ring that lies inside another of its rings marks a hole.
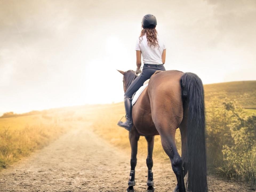
[[[91,121],[89,116],[93,114],[91,106],[78,106],[0,118],[0,169],[46,146],[73,129],[76,122]]]

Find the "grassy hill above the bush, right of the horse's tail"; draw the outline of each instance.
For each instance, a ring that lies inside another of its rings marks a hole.
[[[211,98],[230,98],[244,108],[256,108],[256,81],[234,81],[204,85],[205,101]]]

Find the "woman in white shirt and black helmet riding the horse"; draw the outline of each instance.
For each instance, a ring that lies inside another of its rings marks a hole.
[[[157,19],[152,14],[147,14],[142,18],[142,30],[137,39],[135,50],[137,58],[137,68],[135,73],[139,75],[128,87],[124,95],[126,122],[119,121],[117,125],[124,127],[128,131],[132,127],[132,105],[131,97],[151,77],[157,70],[165,71],[166,47],[165,43],[159,38],[157,30]],[[143,69],[141,71],[141,54],[143,57]]]

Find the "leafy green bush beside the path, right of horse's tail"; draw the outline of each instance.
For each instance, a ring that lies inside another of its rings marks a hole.
[[[206,115],[210,171],[256,183],[256,116],[247,116],[235,101],[213,99]]]

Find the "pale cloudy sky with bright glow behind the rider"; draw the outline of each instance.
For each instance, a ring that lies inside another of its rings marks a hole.
[[[256,80],[255,0],[0,0],[0,114],[123,101],[149,13],[166,70]]]

